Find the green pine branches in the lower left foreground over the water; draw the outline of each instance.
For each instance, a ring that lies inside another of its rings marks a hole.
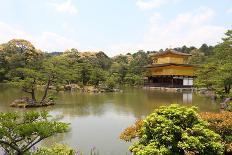
[[[0,113],[0,146],[10,155],[23,155],[42,140],[67,131],[68,124],[50,121],[47,112]]]

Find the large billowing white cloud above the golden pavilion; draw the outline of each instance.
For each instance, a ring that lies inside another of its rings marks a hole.
[[[135,52],[140,49],[159,50],[168,47],[196,46],[203,43],[215,45],[221,41],[225,27],[211,24],[215,12],[201,7],[191,12],[177,15],[165,22],[158,13],[151,15],[149,29],[138,43],[118,43],[109,47],[111,51]],[[111,53],[112,55],[118,53]]]

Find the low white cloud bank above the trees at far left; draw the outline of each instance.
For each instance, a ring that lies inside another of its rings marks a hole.
[[[42,32],[35,36],[10,26],[4,22],[0,22],[0,44],[6,43],[14,38],[23,38],[32,42],[36,48],[44,51],[64,51],[69,48],[79,48],[78,41],[69,39],[53,32]]]

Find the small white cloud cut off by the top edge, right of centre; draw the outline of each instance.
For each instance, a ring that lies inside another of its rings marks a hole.
[[[177,2],[177,1],[179,0],[137,0],[136,5],[141,10],[149,10],[149,9],[159,7],[166,3]]]

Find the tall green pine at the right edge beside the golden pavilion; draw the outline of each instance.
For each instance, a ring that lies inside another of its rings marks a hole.
[[[232,30],[225,35],[197,74],[198,86],[211,87],[222,97],[230,94],[232,85]]]

